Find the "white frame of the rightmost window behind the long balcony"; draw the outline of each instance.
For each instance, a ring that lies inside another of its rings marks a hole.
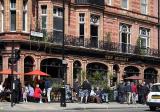
[[[146,34],[142,34],[142,30],[144,30]],[[140,27],[139,37],[141,39],[145,39],[146,40],[146,45],[143,46],[143,47],[146,48],[146,49],[149,48],[150,47],[150,30],[147,29],[147,28]],[[141,45],[141,41],[140,41],[140,45]]]

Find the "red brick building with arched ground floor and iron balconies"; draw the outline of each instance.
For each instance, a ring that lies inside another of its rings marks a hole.
[[[68,84],[82,74],[107,75],[108,84],[133,75],[160,81],[158,0],[64,0],[64,56]],[[15,70],[40,69],[63,78],[63,0],[0,0],[1,69],[11,46],[21,50]],[[43,37],[31,35],[43,32]],[[6,76],[1,76],[1,80]],[[29,80],[20,76],[22,81]]]

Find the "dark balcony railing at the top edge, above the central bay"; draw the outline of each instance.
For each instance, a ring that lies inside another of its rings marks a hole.
[[[99,5],[104,6],[104,0],[75,0],[77,5]]]

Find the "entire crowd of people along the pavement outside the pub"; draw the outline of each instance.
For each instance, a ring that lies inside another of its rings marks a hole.
[[[20,79],[17,77],[13,78],[12,86],[9,80],[10,77],[6,78],[3,84],[0,83],[0,100],[4,97],[6,98],[7,95],[10,97],[12,92],[14,103],[19,103],[20,101],[42,103],[43,96],[46,96],[47,102],[51,102],[52,84],[49,79],[45,79],[43,83],[41,81],[35,81],[33,84],[27,83],[24,86],[21,85]],[[147,84],[145,82],[141,84],[130,81],[121,82],[115,89],[117,91],[116,100],[122,104],[136,104],[137,102],[145,104],[151,86],[151,83]],[[66,89],[66,91],[70,90]],[[87,79],[82,84],[76,80],[73,84],[73,94],[72,92],[67,93],[70,93],[69,95],[72,97],[72,100],[79,101],[80,103],[109,102],[109,91],[98,86],[94,87]]]

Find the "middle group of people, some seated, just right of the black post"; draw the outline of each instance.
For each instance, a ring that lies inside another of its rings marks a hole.
[[[75,100],[79,100],[81,103],[96,102],[108,103],[108,93],[105,89],[93,87],[90,82],[85,79],[82,85],[79,84],[78,80],[75,81],[73,85],[73,92]]]

